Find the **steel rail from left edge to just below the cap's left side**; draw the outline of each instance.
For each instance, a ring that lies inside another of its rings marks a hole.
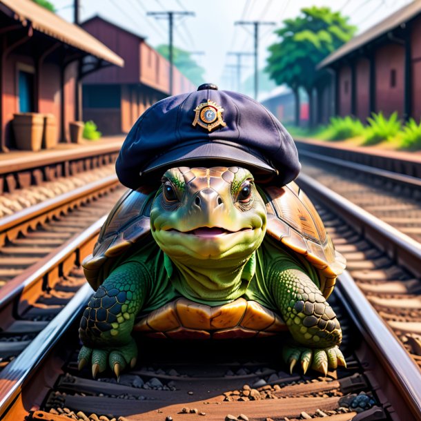
[[[92,193],[95,193],[98,190],[112,186],[113,184],[118,184],[117,175],[108,175],[104,179],[99,179],[95,182],[86,184],[70,190],[66,193],[52,197],[51,199],[44,200],[28,208],[19,210],[19,212],[14,213],[13,215],[0,218],[0,235],[6,233],[7,231],[17,228],[21,224],[30,222],[32,219],[45,215],[52,210],[55,210],[69,202],[74,202],[77,199],[88,196]]]

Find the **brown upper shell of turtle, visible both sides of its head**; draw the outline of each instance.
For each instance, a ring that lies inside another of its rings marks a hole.
[[[318,271],[320,291],[329,297],[337,275],[345,267],[344,257],[335,251],[322,219],[297,184],[260,188],[266,196],[267,233]],[[148,188],[128,190],[108,215],[92,255],[82,266],[90,286],[97,290],[113,258],[127,251],[150,232],[150,207],[155,191]]]

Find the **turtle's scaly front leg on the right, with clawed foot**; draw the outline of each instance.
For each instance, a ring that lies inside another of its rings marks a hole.
[[[290,370],[301,361],[326,375],[328,369],[346,366],[338,345],[342,331],[335,312],[320,290],[304,272],[290,268],[275,271],[273,293],[297,345],[285,345],[283,357]]]

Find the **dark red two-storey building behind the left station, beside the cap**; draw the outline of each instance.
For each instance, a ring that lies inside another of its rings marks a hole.
[[[84,79],[84,120],[93,120],[107,135],[127,133],[139,115],[169,95],[169,66],[145,39],[102,17],[82,27],[124,59],[124,68],[108,68]],[[194,86],[173,68],[173,95]]]

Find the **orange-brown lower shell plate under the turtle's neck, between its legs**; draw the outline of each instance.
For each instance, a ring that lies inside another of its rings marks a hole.
[[[177,298],[141,317],[133,330],[171,339],[233,339],[271,336],[288,328],[279,315],[244,298],[222,306]]]

